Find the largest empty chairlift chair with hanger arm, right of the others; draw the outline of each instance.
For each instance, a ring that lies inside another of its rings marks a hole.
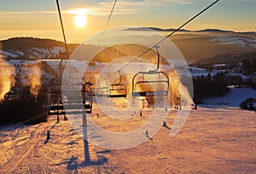
[[[157,51],[157,68],[156,70],[141,71],[133,76],[131,92],[133,97],[146,98],[155,96],[167,96],[169,93],[169,76],[165,72],[159,70],[159,47],[154,46],[154,48]]]

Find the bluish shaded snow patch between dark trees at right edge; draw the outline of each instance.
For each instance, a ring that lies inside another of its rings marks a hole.
[[[203,100],[205,107],[239,107],[247,98],[256,98],[256,90],[252,88],[229,87],[230,92],[223,97],[207,98]]]

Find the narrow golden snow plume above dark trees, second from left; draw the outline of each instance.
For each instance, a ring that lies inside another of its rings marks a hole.
[[[32,66],[29,72],[28,80],[30,84],[30,93],[37,98],[41,88],[41,70],[38,65]]]

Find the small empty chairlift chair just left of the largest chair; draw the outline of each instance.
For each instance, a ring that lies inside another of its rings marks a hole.
[[[119,71],[119,82],[108,86],[108,98],[126,98],[127,88],[121,81],[121,73]]]

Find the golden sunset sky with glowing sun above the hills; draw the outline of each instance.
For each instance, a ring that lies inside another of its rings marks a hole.
[[[175,29],[212,2],[191,0],[117,1],[107,29],[122,25]],[[113,1],[75,0],[68,2],[62,0],[60,5],[67,42],[80,43],[89,36],[104,30]],[[256,24],[253,17],[255,5],[256,2],[252,0],[219,1],[183,29],[198,31],[217,28],[236,32],[255,31]],[[4,1],[0,7],[0,14],[0,40],[19,36],[63,40],[55,2],[49,0],[44,2]],[[80,20],[77,21],[78,19]]]

